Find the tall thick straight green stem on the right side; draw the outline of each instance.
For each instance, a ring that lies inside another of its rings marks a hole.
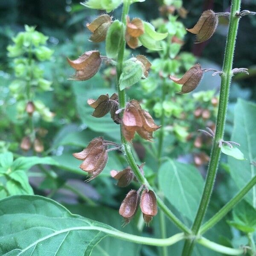
[[[205,212],[207,210],[209,200],[212,194],[213,185],[215,182],[215,177],[218,169],[218,162],[220,159],[221,148],[219,148],[219,141],[222,140],[224,135],[224,126],[226,121],[227,105],[229,98],[230,82],[233,76],[232,65],[233,65],[233,55],[236,43],[236,34],[239,24],[239,17],[236,12],[240,10],[241,0],[233,0],[231,4],[230,11],[230,22],[229,29],[225,47],[224,62],[221,75],[221,89],[220,89],[220,99],[218,107],[218,115],[216,120],[216,131],[215,137],[212,142],[212,150],[209,161],[209,166],[207,170],[207,177],[204,185],[204,192],[198,207],[198,212],[195,217],[195,221],[192,225],[192,233],[197,235],[201,223],[204,219]],[[183,256],[189,256],[192,253],[194,241],[187,240],[183,247]]]

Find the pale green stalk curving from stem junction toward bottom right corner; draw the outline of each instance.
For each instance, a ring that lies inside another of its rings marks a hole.
[[[234,249],[230,247],[223,246],[221,244],[216,244],[215,242],[209,241],[208,239],[202,237],[197,240],[198,244],[204,245],[205,247],[214,250],[219,253],[227,254],[227,255],[241,255],[244,254],[244,250]]]

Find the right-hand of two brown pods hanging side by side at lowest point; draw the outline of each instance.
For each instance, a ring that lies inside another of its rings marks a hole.
[[[157,215],[157,198],[152,190],[144,189],[140,198],[140,209],[148,225],[153,216]]]

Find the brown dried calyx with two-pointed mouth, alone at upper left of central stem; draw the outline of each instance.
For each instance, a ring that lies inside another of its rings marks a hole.
[[[78,59],[71,61],[67,58],[71,67],[76,70],[76,74],[71,80],[85,81],[93,77],[99,70],[102,58],[98,51],[84,52]]]

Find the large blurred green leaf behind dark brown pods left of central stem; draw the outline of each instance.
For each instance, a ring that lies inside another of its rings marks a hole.
[[[87,99],[98,99],[101,94],[108,93],[111,95],[115,91],[110,88],[95,88],[91,86],[91,83],[92,82],[89,80],[85,81],[82,86],[81,84],[73,85],[73,90],[76,95],[77,113],[79,114],[81,121],[91,130],[100,132],[102,135],[107,134],[118,142],[120,141],[120,126],[113,122],[109,113],[101,118],[92,116],[93,108],[87,104]],[[93,84],[95,83],[102,83],[102,80],[99,79],[99,81],[93,81]]]

